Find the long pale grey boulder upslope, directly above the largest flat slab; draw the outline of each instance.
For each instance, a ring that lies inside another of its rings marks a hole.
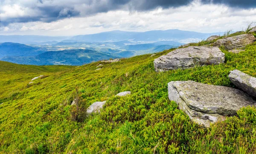
[[[218,47],[189,46],[176,49],[167,55],[154,60],[154,68],[157,72],[176,69],[187,69],[196,65],[221,64],[225,61],[225,54]]]

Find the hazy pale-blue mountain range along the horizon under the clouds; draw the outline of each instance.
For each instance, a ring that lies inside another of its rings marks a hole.
[[[156,41],[176,41],[190,43],[208,38],[210,35],[222,35],[223,32],[200,33],[182,31],[178,29],[153,30],[147,32],[110,31],[89,35],[76,36],[40,36],[40,35],[0,35],[0,42],[14,42],[20,44],[41,44],[49,45],[56,42],[119,42],[131,41],[140,43],[153,43]],[[167,44],[169,45],[169,44]]]

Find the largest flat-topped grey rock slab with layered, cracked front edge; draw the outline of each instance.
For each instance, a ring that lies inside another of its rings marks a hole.
[[[202,84],[195,81],[172,81],[168,83],[168,95],[192,121],[209,127],[236,115],[236,111],[256,102],[241,90]]]

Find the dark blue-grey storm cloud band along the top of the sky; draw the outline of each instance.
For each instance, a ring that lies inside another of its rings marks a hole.
[[[15,22],[43,21],[52,22],[67,17],[89,16],[96,13],[108,12],[117,9],[129,9],[130,11],[149,11],[158,7],[167,9],[170,7],[186,6],[193,0],[38,0],[36,4],[23,3],[17,0],[17,4],[37,12],[36,15],[24,15],[23,17],[9,17],[1,21],[0,25],[8,25]],[[13,1],[13,3],[16,3]],[[224,4],[237,8],[255,8],[256,0],[201,0],[204,4]],[[4,6],[4,0],[1,1]],[[9,4],[9,3],[8,3]],[[0,13],[1,13],[0,6]]]

